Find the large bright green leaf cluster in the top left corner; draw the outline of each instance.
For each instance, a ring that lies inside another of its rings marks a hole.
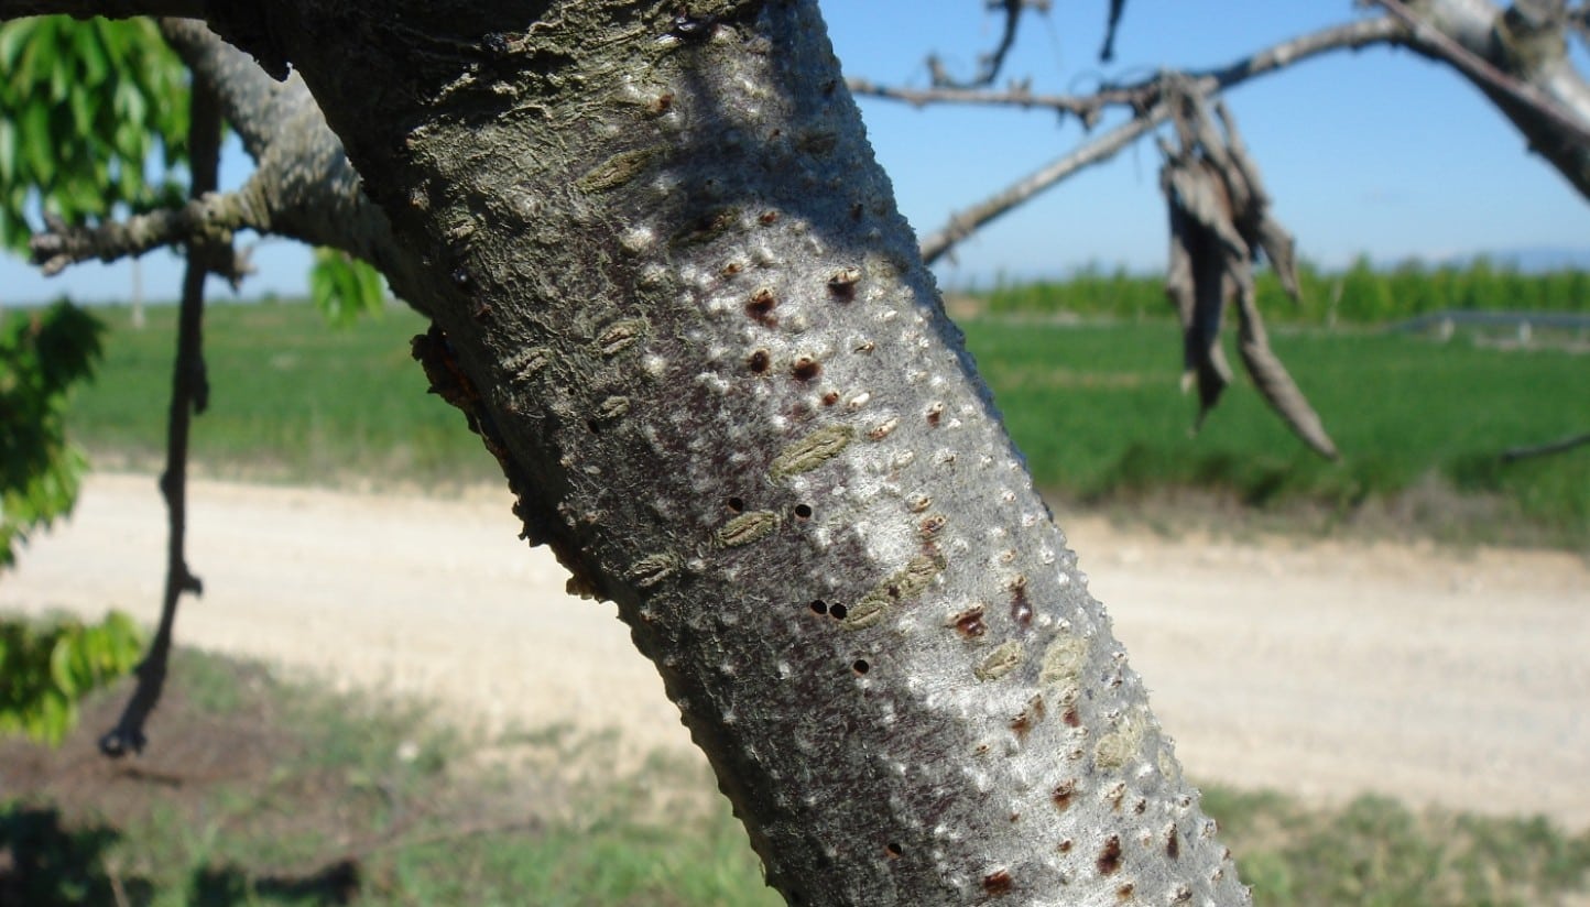
[[[180,203],[186,71],[149,19],[0,25],[0,246],[25,249],[33,199],[68,222]]]

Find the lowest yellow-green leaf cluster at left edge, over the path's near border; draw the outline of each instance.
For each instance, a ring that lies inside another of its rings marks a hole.
[[[103,623],[59,618],[0,621],[0,734],[56,745],[76,726],[78,701],[132,670],[143,632],[111,612]]]

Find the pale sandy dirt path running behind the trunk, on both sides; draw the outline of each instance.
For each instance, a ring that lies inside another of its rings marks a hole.
[[[205,597],[178,635],[417,691],[496,726],[617,726],[688,747],[612,605],[563,594],[506,494],[456,500],[196,483]],[[1167,540],[1065,519],[1196,778],[1313,799],[1383,791],[1590,826],[1590,569],[1569,554]],[[153,621],[149,477],[89,480],[0,578],[0,608]]]

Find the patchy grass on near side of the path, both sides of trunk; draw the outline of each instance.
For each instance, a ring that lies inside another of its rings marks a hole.
[[[0,902],[778,904],[698,766],[625,774],[601,739],[479,740],[412,704],[180,651],[134,766],[0,742]],[[1552,904],[1590,896],[1590,832],[1545,820],[1313,809],[1207,789],[1258,904]]]

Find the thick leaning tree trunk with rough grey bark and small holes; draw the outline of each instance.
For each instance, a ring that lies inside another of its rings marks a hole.
[[[1240,902],[811,3],[266,6],[432,383],[798,904]],[[504,27],[504,24],[512,24]],[[556,670],[556,666],[541,666]]]

